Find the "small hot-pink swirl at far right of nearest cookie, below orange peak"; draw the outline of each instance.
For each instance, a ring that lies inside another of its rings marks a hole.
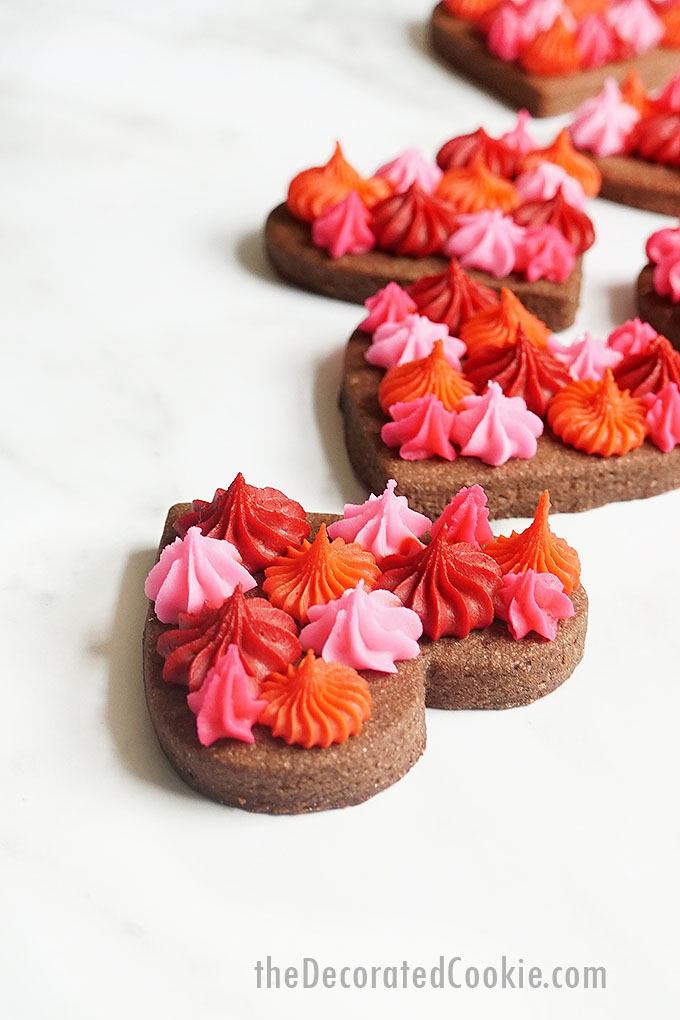
[[[507,620],[515,641],[531,630],[555,641],[560,620],[574,615],[574,604],[560,578],[552,573],[536,573],[531,567],[504,576],[493,608],[500,619]]]

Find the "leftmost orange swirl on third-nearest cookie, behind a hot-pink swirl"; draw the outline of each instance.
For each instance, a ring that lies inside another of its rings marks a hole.
[[[381,177],[361,177],[348,163],[339,142],[325,166],[302,170],[289,187],[286,204],[294,216],[311,223],[326,209],[341,202],[351,191],[359,194],[371,208],[391,194],[389,183]]]

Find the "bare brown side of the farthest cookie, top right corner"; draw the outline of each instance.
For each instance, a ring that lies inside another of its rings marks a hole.
[[[432,48],[473,81],[494,92],[507,103],[524,107],[534,117],[567,113],[589,96],[596,95],[607,78],[622,82],[635,69],[647,89],[664,84],[678,69],[678,51],[655,49],[629,60],[618,60],[592,70],[545,76],[529,74],[518,64],[500,60],[486,48],[475,27],[437,4],[430,19]]]

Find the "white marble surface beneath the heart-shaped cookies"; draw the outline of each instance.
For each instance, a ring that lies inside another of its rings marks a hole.
[[[512,117],[427,55],[427,3],[5,0],[0,1012],[677,1015],[680,493],[562,517],[587,657],[534,707],[430,713],[398,786],[253,817],[193,795],[140,675],[166,507],[243,468],[360,497],[351,305],[271,277],[266,211],[335,137],[365,171]],[[547,138],[555,125],[541,125]],[[661,217],[607,203],[575,337],[632,311]],[[254,965],[600,964],[606,991],[257,991]],[[676,992],[677,996],[677,992]]]

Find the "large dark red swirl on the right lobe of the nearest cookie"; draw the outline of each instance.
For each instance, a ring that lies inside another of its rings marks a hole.
[[[449,542],[442,528],[411,556],[388,556],[378,588],[394,592],[422,620],[434,641],[466,638],[493,619],[493,597],[503,574],[498,563],[466,542]]]

